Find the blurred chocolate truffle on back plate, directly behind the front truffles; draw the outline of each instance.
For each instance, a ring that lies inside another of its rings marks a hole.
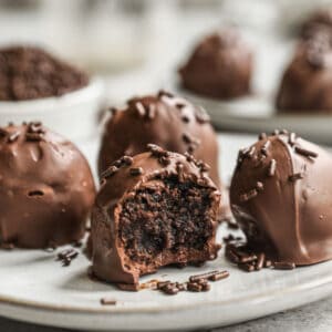
[[[234,30],[206,37],[179,70],[185,89],[228,100],[250,92],[252,53]]]

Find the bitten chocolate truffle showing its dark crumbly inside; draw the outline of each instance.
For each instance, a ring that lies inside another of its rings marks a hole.
[[[156,145],[108,167],[92,211],[94,274],[137,284],[164,266],[215,259],[220,193],[207,168]]]

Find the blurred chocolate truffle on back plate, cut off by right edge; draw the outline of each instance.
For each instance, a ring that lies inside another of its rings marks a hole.
[[[280,113],[332,113],[332,33],[301,42],[277,95]]]

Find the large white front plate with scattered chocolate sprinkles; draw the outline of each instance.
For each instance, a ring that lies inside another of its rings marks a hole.
[[[237,149],[253,139],[220,137],[225,177],[231,173]],[[95,146],[83,149],[94,159]],[[222,232],[220,229],[218,236]],[[142,279],[184,281],[190,274],[212,269],[230,271],[228,279],[212,283],[210,292],[169,297],[153,290],[120,291],[90,280],[89,261],[83,255],[68,268],[62,268],[55,256],[56,252],[41,250],[0,251],[0,315],[93,331],[199,329],[255,319],[332,293],[332,261],[292,271],[247,273],[231,267],[220,253],[216,261],[201,268],[166,268]],[[101,305],[103,297],[117,304]]]

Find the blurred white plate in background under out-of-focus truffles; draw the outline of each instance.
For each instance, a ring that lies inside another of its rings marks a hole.
[[[304,113],[280,115],[276,113],[273,96],[257,94],[234,101],[218,101],[181,89],[176,79],[170,82],[170,91],[204,106],[219,129],[259,133],[286,128],[308,139],[332,144],[332,116]],[[314,114],[314,111],[312,113]]]

